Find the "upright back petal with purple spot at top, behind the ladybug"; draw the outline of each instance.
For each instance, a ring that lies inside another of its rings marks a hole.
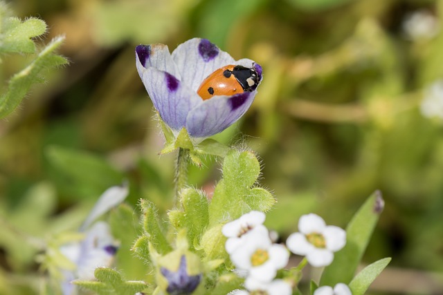
[[[220,50],[207,39],[194,38],[177,46],[172,53],[182,82],[197,91],[201,82],[222,66],[235,64],[228,53]]]

